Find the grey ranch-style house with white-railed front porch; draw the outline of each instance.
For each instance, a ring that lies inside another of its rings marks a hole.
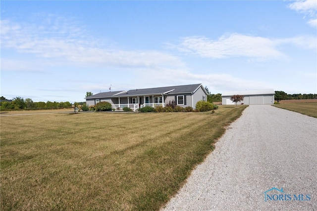
[[[128,91],[108,91],[86,97],[87,106],[99,102],[109,102],[112,108],[129,107],[133,111],[145,106],[164,107],[169,101],[175,100],[181,107],[195,108],[199,100],[207,101],[207,91],[202,84],[176,85],[157,88],[131,89]]]

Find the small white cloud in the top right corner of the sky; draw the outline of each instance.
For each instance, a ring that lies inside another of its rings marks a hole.
[[[298,0],[289,4],[288,8],[308,15],[312,19],[307,23],[311,27],[317,27],[317,0]]]

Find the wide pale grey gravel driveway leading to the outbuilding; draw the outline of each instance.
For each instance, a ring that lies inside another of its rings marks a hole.
[[[163,210],[317,211],[317,119],[249,106]]]

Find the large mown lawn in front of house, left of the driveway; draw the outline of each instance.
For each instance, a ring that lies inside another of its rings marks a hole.
[[[245,108],[1,116],[0,209],[159,210]]]

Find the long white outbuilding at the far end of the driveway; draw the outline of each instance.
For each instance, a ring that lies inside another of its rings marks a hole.
[[[234,102],[230,100],[232,95],[244,96],[243,101],[238,102],[244,105],[256,105],[256,104],[273,104],[274,94],[273,89],[262,89],[262,90],[245,90],[245,91],[227,91],[222,93],[222,105],[234,105]]]

